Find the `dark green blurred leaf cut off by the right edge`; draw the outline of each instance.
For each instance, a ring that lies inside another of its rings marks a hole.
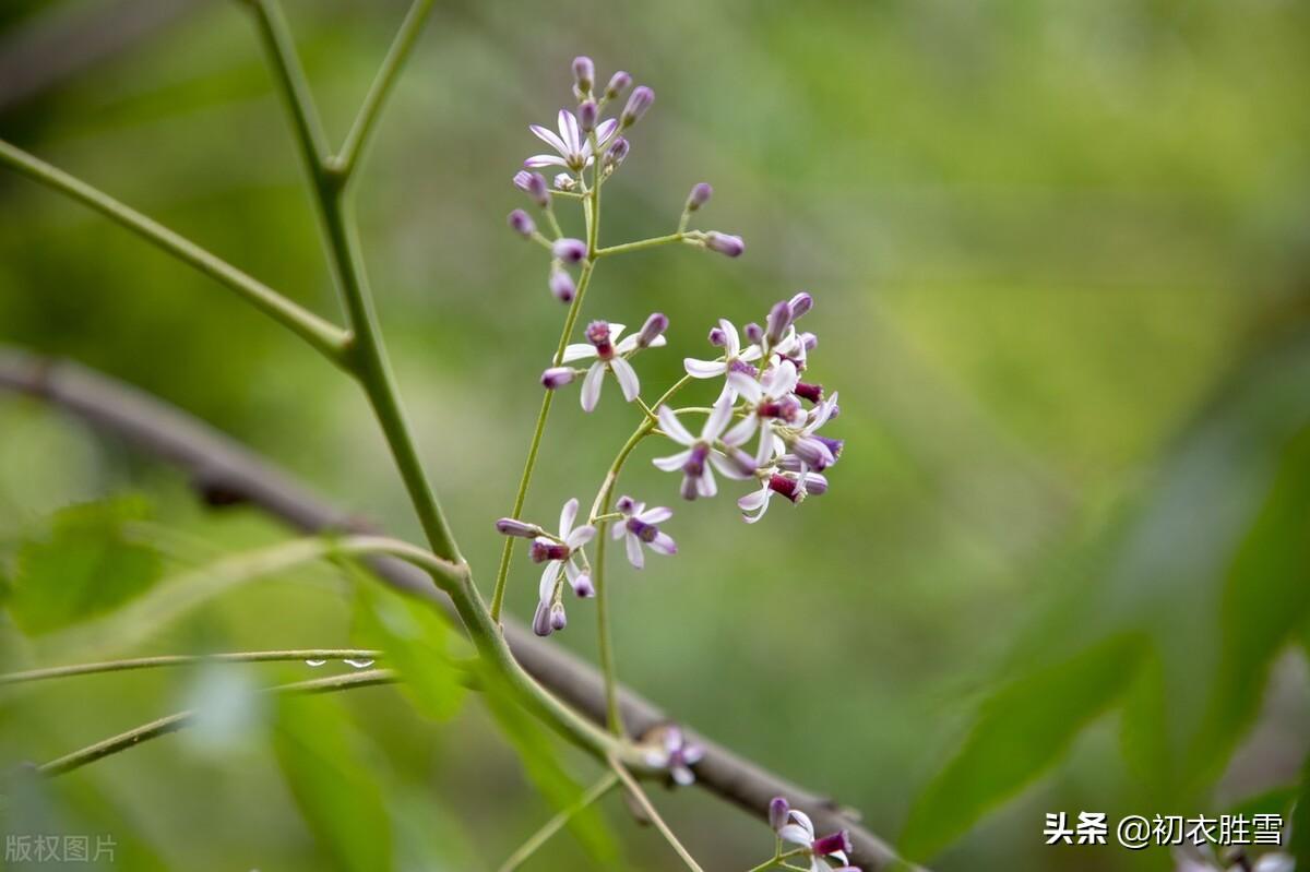
[[[1310,615],[1310,428],[1288,444],[1277,477],[1227,573],[1220,663],[1191,748],[1213,775],[1259,712],[1269,666]]]

